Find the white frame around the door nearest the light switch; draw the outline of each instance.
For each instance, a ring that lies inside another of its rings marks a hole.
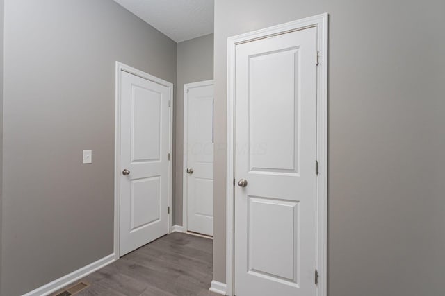
[[[158,83],[159,85],[163,85],[168,87],[170,93],[170,164],[168,168],[168,207],[170,207],[170,214],[168,218],[168,232],[172,232],[172,162],[173,162],[173,84],[171,82],[162,80],[161,78],[157,78],[155,76],[149,75],[143,71],[135,69],[133,67],[128,66],[127,64],[123,64],[122,62],[116,62],[115,67],[115,155],[114,155],[114,258],[118,260],[120,258],[120,250],[119,250],[119,223],[120,223],[120,82],[122,77],[122,71],[133,74],[140,78],[147,79],[149,81]]]

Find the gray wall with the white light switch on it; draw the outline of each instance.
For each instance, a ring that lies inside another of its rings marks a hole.
[[[111,0],[5,4],[1,295],[15,296],[113,252],[115,60],[175,83],[176,43]]]

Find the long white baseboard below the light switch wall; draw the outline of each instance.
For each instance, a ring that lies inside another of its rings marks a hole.
[[[84,266],[83,268],[71,272],[70,274],[65,275],[64,277],[60,277],[59,279],[51,281],[51,283],[48,283],[44,286],[41,286],[40,288],[32,290],[31,292],[26,293],[22,296],[42,296],[56,292],[57,290],[60,290],[61,288],[69,284],[72,284],[74,281],[77,281],[82,277],[86,277],[87,275],[90,275],[90,273],[95,272],[96,270],[99,270],[100,268],[103,268],[104,266],[110,263],[113,263],[113,261],[115,261],[114,254],[108,255],[89,265]]]

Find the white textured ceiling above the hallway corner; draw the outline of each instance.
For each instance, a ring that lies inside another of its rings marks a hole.
[[[213,0],[114,0],[181,42],[213,33]]]

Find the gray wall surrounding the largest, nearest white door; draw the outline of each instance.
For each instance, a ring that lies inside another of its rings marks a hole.
[[[216,0],[214,278],[225,282],[227,37],[322,12],[330,13],[328,293],[443,295],[443,0]]]

